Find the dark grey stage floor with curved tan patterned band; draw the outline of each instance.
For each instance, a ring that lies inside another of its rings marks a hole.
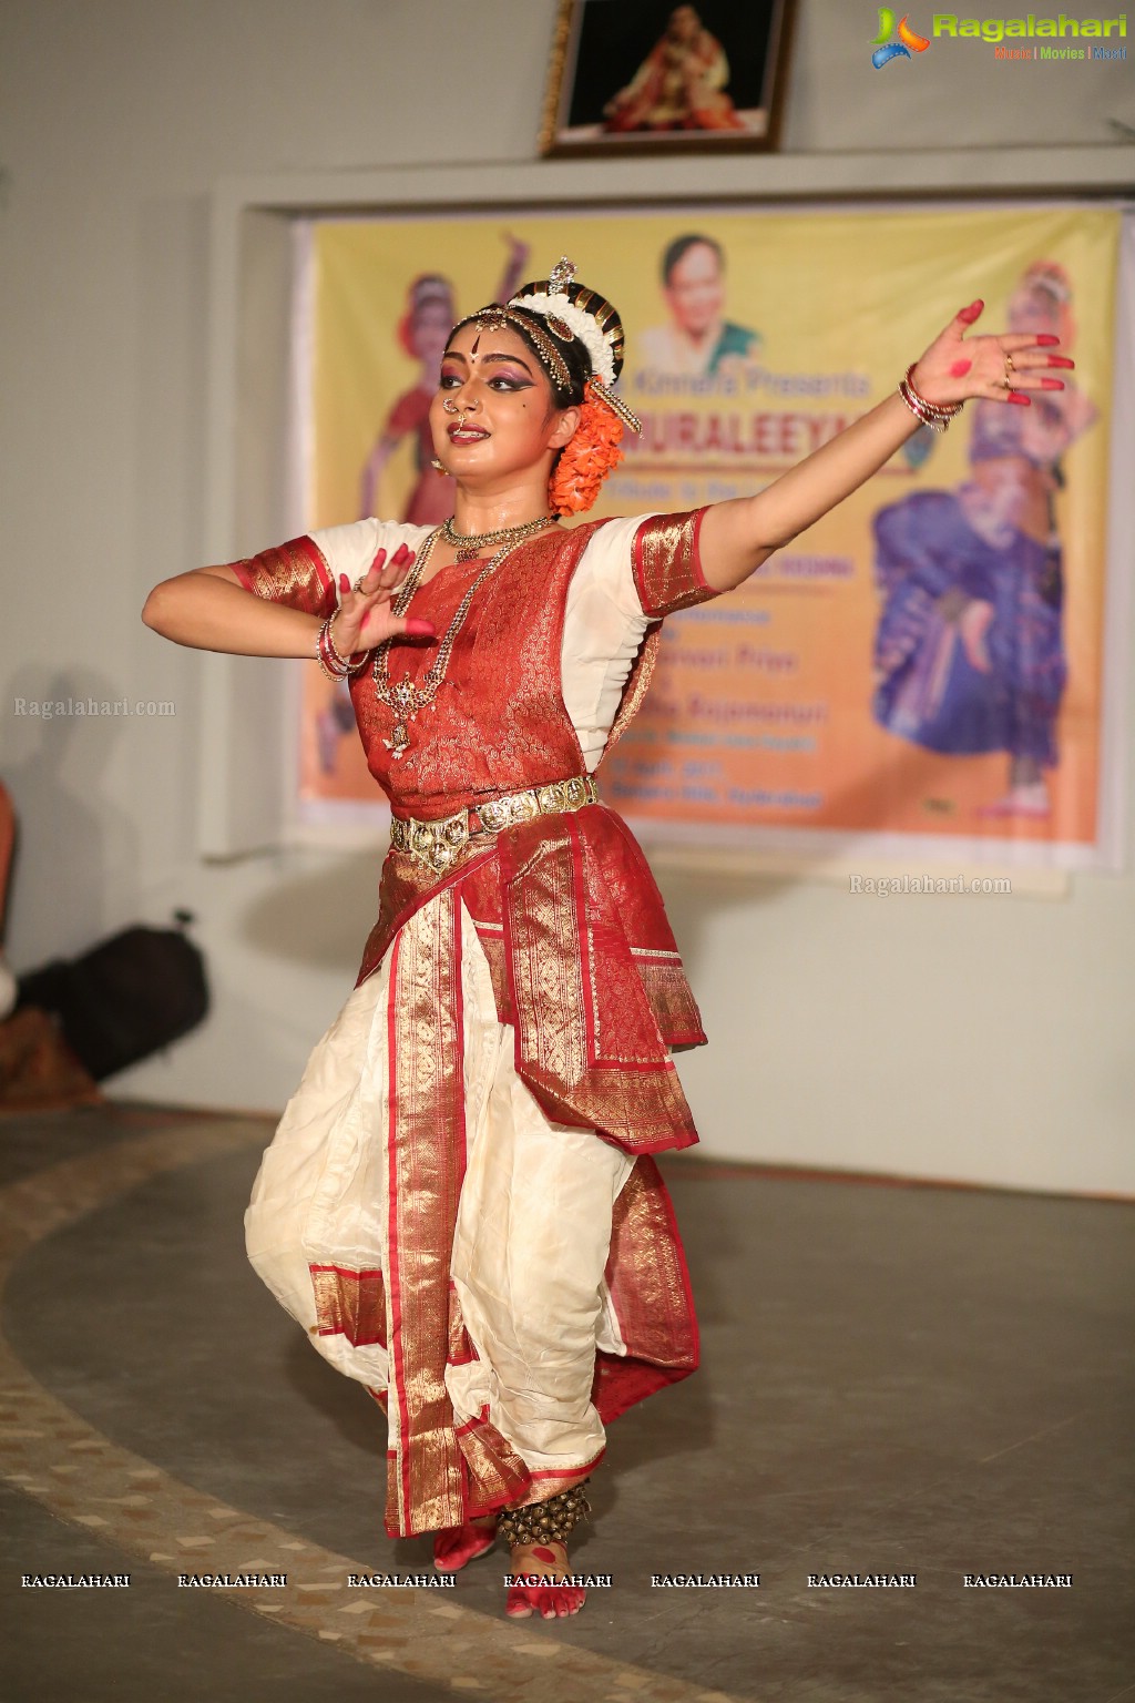
[[[347,1585],[431,1541],[245,1260],[271,1134],[0,1121],[5,1703],[1135,1703],[1135,1206],[664,1158],[701,1369],[609,1429],[572,1567],[611,1589],[507,1621],[504,1548]],[[288,1585],[179,1585],[237,1572]],[[131,1582],[22,1584],[60,1574]],[[652,1584],[691,1574],[759,1587]]]

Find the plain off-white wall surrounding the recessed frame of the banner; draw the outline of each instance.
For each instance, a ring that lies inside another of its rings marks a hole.
[[[529,162],[553,14],[555,0],[0,12],[0,775],[22,824],[7,950],[29,967],[187,904],[214,988],[209,1024],[119,1092],[279,1107],[374,915],[378,855],[197,860],[201,659],[138,618],[148,588],[204,552],[209,196],[250,174]],[[895,152],[967,146],[985,184],[1001,145],[1045,148],[1067,174],[1069,150],[1113,140],[1109,116],[1135,126],[1130,66],[1026,82],[936,43],[927,99],[929,75],[870,68],[870,32],[858,7],[805,0],[786,150],[878,150],[883,172]],[[14,714],[17,697],[68,695],[165,698],[175,715]],[[1077,877],[1062,903],[868,906],[783,879],[664,889],[711,1032],[681,1061],[706,1153],[1135,1189],[1130,874]]]

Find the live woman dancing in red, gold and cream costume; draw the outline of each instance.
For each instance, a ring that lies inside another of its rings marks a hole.
[[[248,1257],[386,1410],[390,1536],[434,1531],[454,1570],[497,1528],[509,1614],[579,1611],[565,1540],[604,1422],[698,1364],[652,1155],[698,1139],[670,1051],[704,1034],[594,770],[669,611],[739,586],[919,422],[1058,385],[1055,337],[967,337],[980,312],[759,496],[565,531],[636,422],[611,390],[619,317],[562,261],[449,335],[444,526],[334,526],[165,581],[143,611],[179,644],[351,678],[391,850],[356,989],[264,1155]]]

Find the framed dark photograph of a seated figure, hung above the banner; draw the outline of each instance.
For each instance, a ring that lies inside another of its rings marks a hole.
[[[541,153],[774,148],[795,0],[560,0]]]

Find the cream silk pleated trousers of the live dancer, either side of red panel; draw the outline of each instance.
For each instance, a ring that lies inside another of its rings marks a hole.
[[[427,928],[437,903],[422,906],[402,935]],[[613,1202],[635,1161],[592,1131],[550,1122],[519,1080],[514,1030],[497,1020],[488,962],[458,906],[466,1168],[451,1281],[476,1357],[448,1364],[446,1388],[458,1427],[487,1407],[533,1473],[562,1473],[604,1448],[590,1400],[596,1349],[626,1354],[604,1267]],[[388,950],[311,1052],[245,1213],[257,1274],[318,1352],[371,1391],[386,1391],[391,1374],[391,960]],[[381,1340],[356,1345],[342,1332],[320,1333],[311,1267],[383,1272],[385,1325],[369,1333]],[[398,1413],[400,1402],[390,1400],[391,1448]]]

